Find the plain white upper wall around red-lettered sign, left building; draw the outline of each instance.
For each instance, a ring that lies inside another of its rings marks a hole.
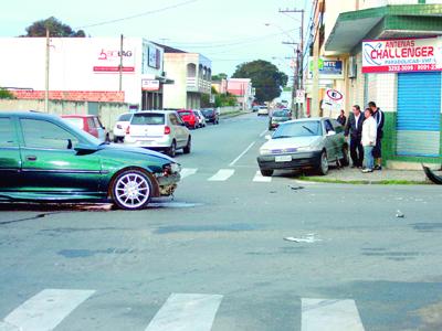
[[[119,38],[51,38],[50,41],[50,90],[118,90],[118,72],[101,73],[94,67],[118,67]],[[8,50],[0,52],[0,86],[43,90],[45,43],[44,38],[0,39],[0,50]],[[133,73],[123,74],[125,102],[138,104],[143,39],[124,39],[123,50],[126,53],[123,66],[134,67]],[[152,75],[161,72],[162,61],[159,70],[147,68]]]

